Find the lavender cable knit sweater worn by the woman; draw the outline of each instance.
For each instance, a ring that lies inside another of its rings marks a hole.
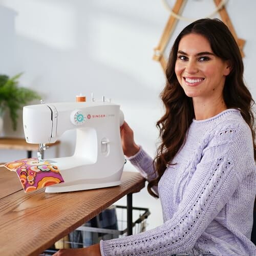
[[[147,180],[155,177],[142,148],[130,160]],[[101,254],[256,255],[250,241],[256,166],[251,132],[240,112],[193,120],[173,163],[156,188],[164,224],[100,241]]]

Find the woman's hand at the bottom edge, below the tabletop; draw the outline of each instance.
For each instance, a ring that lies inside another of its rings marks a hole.
[[[60,249],[53,256],[101,256],[99,244],[80,249]]]

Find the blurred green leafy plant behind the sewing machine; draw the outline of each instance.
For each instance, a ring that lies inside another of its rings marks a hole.
[[[18,87],[18,78],[21,75],[22,73],[9,77],[0,74],[0,119],[3,119],[4,112],[9,109],[12,129],[14,131],[17,129],[18,110],[22,109],[24,105],[33,99],[40,99],[39,94],[35,91]]]

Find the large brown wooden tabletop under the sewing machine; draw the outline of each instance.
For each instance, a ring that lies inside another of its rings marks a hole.
[[[140,191],[139,173],[123,172],[119,186],[67,193],[25,194],[17,174],[0,167],[0,255],[38,255],[125,195]]]

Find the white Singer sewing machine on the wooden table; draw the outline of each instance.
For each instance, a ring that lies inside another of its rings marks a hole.
[[[48,186],[47,193],[116,186],[121,183],[124,155],[119,105],[102,102],[45,103],[23,108],[26,141],[39,144],[39,158],[46,143],[76,129],[74,155],[49,159],[58,166],[64,183]]]

